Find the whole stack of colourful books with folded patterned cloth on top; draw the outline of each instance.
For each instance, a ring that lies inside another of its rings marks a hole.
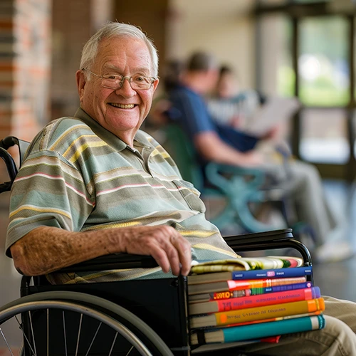
[[[188,276],[191,345],[278,342],[325,326],[324,300],[302,258],[206,261]]]

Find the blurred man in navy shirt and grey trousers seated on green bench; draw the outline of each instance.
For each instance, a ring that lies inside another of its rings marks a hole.
[[[284,169],[281,162],[256,150],[264,140],[279,140],[280,132],[273,127],[263,137],[248,135],[232,127],[231,122],[213,120],[206,104],[206,95],[216,86],[219,67],[210,53],[193,53],[182,74],[182,83],[170,91],[172,107],[179,116],[174,118],[193,142],[201,164],[217,162],[239,167],[258,167],[273,177],[277,187],[283,189],[293,201],[298,221],[311,227],[315,243],[315,261],[342,261],[353,256],[346,242],[330,242],[330,234],[337,221],[330,210],[318,170],[298,160]]]

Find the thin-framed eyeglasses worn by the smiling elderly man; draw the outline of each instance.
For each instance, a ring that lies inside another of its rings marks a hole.
[[[98,75],[93,73],[87,68],[82,68],[82,70],[87,70],[89,73],[95,75],[98,78],[101,78],[101,85],[104,88],[108,89],[120,89],[124,85],[124,80],[130,83],[130,86],[133,90],[147,90],[152,87],[152,84],[155,83],[157,78],[154,77],[145,77],[145,75],[135,74],[132,77],[124,77],[120,74],[108,74],[108,75]]]

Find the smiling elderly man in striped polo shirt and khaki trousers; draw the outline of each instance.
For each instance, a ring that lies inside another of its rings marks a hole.
[[[104,26],[85,45],[76,78],[80,109],[35,137],[14,182],[6,253],[16,268],[26,275],[49,273],[52,283],[80,283],[187,275],[192,257],[236,257],[204,218],[199,192],[139,130],[158,84],[157,53],[142,31],[122,23]],[[152,255],[159,267],[52,273],[116,252]],[[356,355],[356,323],[349,316],[356,304],[326,304],[325,314],[340,320],[326,315],[324,330],[247,351]]]

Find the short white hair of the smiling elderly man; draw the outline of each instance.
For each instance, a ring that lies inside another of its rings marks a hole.
[[[132,37],[143,40],[150,52],[152,61],[152,70],[154,77],[158,75],[158,53],[157,48],[153,44],[152,40],[148,38],[145,33],[141,31],[137,26],[129,25],[127,23],[109,22],[100,28],[83,47],[82,56],[80,58],[80,69],[90,68],[95,62],[95,58],[98,54],[98,46],[103,38],[112,37]]]

